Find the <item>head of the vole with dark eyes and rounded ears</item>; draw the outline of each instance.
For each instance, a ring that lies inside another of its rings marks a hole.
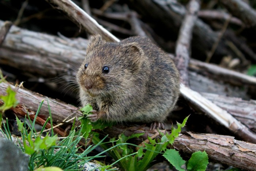
[[[110,43],[93,36],[77,72],[80,91],[90,96],[111,96],[132,88],[134,79],[147,63],[138,43]]]

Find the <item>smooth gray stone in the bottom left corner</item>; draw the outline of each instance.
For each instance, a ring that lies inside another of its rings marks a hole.
[[[0,138],[0,171],[27,171],[29,155],[10,140]]]

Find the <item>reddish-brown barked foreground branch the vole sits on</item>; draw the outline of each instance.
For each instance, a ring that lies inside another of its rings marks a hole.
[[[5,89],[8,86],[15,88],[14,86],[8,85],[7,83],[0,83],[0,94],[5,94]],[[16,98],[20,102],[19,106],[16,107],[18,109],[12,108],[11,110],[18,113],[23,113],[28,110],[30,116],[32,116],[34,113],[31,114],[30,111],[36,111],[38,104],[41,103],[41,100],[48,99],[53,122],[62,122],[65,119],[74,116],[74,114],[80,115],[78,108],[74,106],[25,90],[22,87],[17,90]],[[48,105],[45,102],[39,113],[39,118],[43,120],[46,120],[46,118],[49,116]],[[0,103],[3,104],[1,100]],[[44,122],[37,123],[41,125],[44,124]],[[70,123],[72,123],[72,120]],[[56,129],[54,131],[56,131]],[[144,140],[147,139],[147,136],[153,136],[157,133],[156,130],[150,131],[149,127],[135,125],[118,125],[111,128],[106,128],[99,132],[104,135],[109,134],[110,137],[116,137],[120,134],[129,136],[135,133],[145,133],[141,137]],[[141,138],[139,139],[140,141]],[[173,147],[177,150],[183,151],[187,156],[191,155],[192,152],[205,150],[210,160],[215,162],[229,164],[231,166],[246,170],[256,169],[256,144],[241,142],[230,136],[184,132],[180,134],[178,138],[176,138]]]

